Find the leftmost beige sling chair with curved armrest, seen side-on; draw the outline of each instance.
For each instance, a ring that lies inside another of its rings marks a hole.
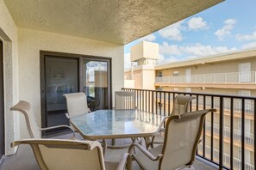
[[[11,111],[22,112],[25,117],[28,133],[31,138],[41,138],[41,131],[53,130],[57,128],[68,128],[72,131],[72,138],[75,138],[75,132],[68,125],[56,125],[47,128],[41,128],[36,124],[34,114],[31,112],[31,105],[28,101],[20,100],[15,106],[10,108]]]

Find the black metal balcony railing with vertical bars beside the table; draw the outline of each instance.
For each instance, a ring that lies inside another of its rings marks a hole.
[[[201,143],[203,145],[202,152],[197,152],[197,155],[206,161],[215,163],[219,166],[219,169],[234,169],[234,167],[239,167],[238,169],[241,170],[255,169],[255,165],[252,163],[256,162],[256,156],[253,155],[256,153],[256,147],[254,147],[255,135],[248,134],[249,132],[246,131],[246,113],[247,110],[250,110],[250,113],[255,115],[256,97],[157,91],[135,88],[122,88],[122,90],[135,92],[135,106],[139,110],[165,116],[169,116],[171,114],[172,106],[174,104],[173,99],[178,94],[186,94],[196,97],[196,99],[190,103],[190,111],[215,108],[217,112],[210,112],[207,116],[209,124],[205,124],[203,128]],[[239,112],[236,112],[237,110],[239,110]],[[240,115],[240,128],[238,130],[237,127],[234,126],[236,123],[234,122],[234,114],[235,116]],[[218,122],[218,126],[214,124],[215,122]],[[253,129],[256,130],[256,121],[251,119],[250,122],[252,122]],[[224,124],[227,123],[229,126],[225,127]],[[216,133],[218,134],[217,138],[214,137]],[[206,137],[209,139],[209,152],[206,147]],[[228,153],[224,152],[223,148],[225,137],[229,137],[230,142],[228,145]],[[216,141],[218,145],[217,147]],[[234,143],[237,143],[237,141],[240,142],[240,158],[238,161],[232,159],[234,157]],[[253,159],[251,163],[253,164],[253,168],[248,166],[248,162],[245,161],[246,143],[253,146],[253,151],[251,152]],[[218,149],[217,153],[214,151],[215,148]],[[230,156],[228,157],[227,154]],[[228,164],[226,164],[226,162],[228,162]]]

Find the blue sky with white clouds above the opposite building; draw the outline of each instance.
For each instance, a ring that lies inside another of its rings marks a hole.
[[[175,62],[256,48],[256,0],[226,0],[124,47],[125,69],[130,47],[141,40],[159,43],[159,62]]]

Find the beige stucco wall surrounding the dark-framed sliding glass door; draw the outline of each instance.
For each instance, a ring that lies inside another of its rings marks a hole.
[[[18,28],[18,42],[20,99],[32,104],[32,112],[38,124],[41,124],[41,50],[112,58],[113,101],[114,92],[123,87],[123,46],[24,28]],[[27,136],[27,128],[21,124],[21,137]]]

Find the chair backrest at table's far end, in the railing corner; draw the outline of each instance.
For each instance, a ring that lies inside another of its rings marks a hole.
[[[115,107],[116,109],[135,109],[135,92],[116,91]]]

